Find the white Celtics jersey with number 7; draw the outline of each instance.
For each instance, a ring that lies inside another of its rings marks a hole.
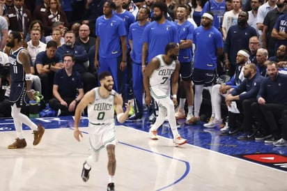
[[[171,75],[176,70],[176,61],[167,65],[163,60],[164,54],[155,56],[160,61],[160,67],[153,71],[150,75],[150,88],[159,88],[164,92],[169,93]]]

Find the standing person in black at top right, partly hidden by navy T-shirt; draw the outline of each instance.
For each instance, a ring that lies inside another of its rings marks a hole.
[[[287,13],[285,5],[286,3],[284,3],[284,0],[276,1],[277,8],[270,10],[263,20],[262,47],[268,50],[269,56],[274,56],[276,54],[276,49],[274,48],[275,39],[272,38],[271,34],[277,18],[280,15]]]

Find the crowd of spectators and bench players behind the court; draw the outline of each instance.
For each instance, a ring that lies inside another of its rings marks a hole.
[[[146,107],[146,65],[164,54],[167,43],[178,43],[183,69],[177,119],[187,125],[202,121],[207,90],[212,112],[205,128],[222,126],[222,135],[242,130],[240,140],[287,146],[286,6],[285,0],[0,0],[0,107],[7,108],[1,116],[10,114],[10,31],[22,33],[32,88],[44,96],[44,105],[49,103],[61,115],[73,114],[69,105],[77,105],[84,93],[98,86],[98,72],[109,70],[123,100],[134,100],[130,121],[141,120]],[[62,70],[65,54],[73,55],[77,84],[68,83]],[[257,82],[258,75],[263,79]],[[226,114],[222,105],[228,108]],[[149,108],[150,121],[156,107],[153,103]],[[247,111],[254,113],[247,118]]]

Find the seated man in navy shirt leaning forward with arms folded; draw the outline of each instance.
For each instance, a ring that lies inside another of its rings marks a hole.
[[[36,56],[36,70],[41,79],[42,95],[45,100],[52,98],[54,73],[63,68],[60,54],[56,54],[56,42],[51,40],[47,43],[46,50]]]

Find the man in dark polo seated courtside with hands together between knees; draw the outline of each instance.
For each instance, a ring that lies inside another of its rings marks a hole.
[[[63,66],[54,76],[53,95],[49,106],[61,115],[74,115],[77,104],[84,96],[82,77],[73,66],[75,57],[72,54],[63,56]]]

